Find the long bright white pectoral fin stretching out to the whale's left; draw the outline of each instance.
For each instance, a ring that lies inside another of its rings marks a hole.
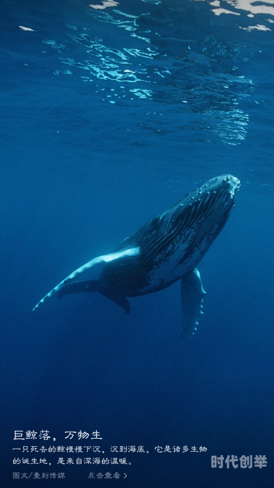
[[[55,288],[53,288],[47,295],[45,295],[45,297],[42,300],[40,300],[37,303],[37,305],[35,305],[32,312],[34,312],[36,310],[36,308],[38,308],[41,305],[41,303],[44,303],[44,301],[46,299],[48,299],[49,297],[52,297],[53,294],[58,292],[60,290],[60,288],[62,288],[62,286],[65,283],[67,283],[67,281],[75,278],[78,275],[81,275],[83,272],[89,270],[90,268],[94,268],[95,266],[98,266],[99,264],[110,263],[111,261],[114,261],[115,259],[121,259],[125,256],[138,256],[139,254],[140,254],[140,247],[134,247],[132,249],[123,249],[123,251],[118,251],[116,253],[111,253],[111,254],[105,254],[103,256],[98,256],[98,257],[95,257],[94,259],[91,259],[91,261],[84,264],[83,266],[81,266],[77,270],[73,271],[71,273],[71,275],[69,275],[68,277],[63,279],[63,281],[61,281],[57,286],[55,286]]]

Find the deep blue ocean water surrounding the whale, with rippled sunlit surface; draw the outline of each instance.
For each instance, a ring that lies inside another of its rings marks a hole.
[[[1,5],[1,486],[271,488],[274,8],[90,5]],[[207,295],[191,340],[179,283],[130,299],[128,316],[100,294],[31,313],[224,173],[241,189],[199,264]]]

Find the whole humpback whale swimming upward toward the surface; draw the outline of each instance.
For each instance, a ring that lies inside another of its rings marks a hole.
[[[129,314],[130,297],[158,292],[181,280],[182,337],[191,337],[203,314],[203,290],[197,265],[227,222],[240,188],[238,178],[217,176],[126,237],[113,253],[91,259],[61,281],[34,307],[58,292],[99,292]],[[99,279],[73,281],[103,266]]]

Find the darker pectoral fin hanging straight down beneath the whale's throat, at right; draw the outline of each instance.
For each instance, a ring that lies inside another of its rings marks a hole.
[[[198,320],[202,312],[203,297],[206,294],[201,284],[199,271],[195,270],[190,275],[182,277],[181,299],[183,312],[182,337],[191,337],[197,330]]]

